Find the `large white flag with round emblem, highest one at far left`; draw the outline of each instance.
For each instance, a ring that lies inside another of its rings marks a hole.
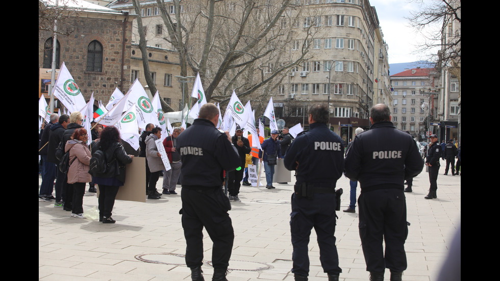
[[[78,111],[85,106],[85,98],[64,62],[61,65],[56,85],[52,91],[54,96],[61,101],[70,113]]]

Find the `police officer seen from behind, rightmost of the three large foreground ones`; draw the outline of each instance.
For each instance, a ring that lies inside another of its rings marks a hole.
[[[401,280],[407,268],[405,240],[405,179],[416,176],[423,159],[413,138],[392,124],[390,110],[378,104],[370,110],[370,130],[356,135],[345,158],[345,175],[359,181],[359,235],[371,280]],[[383,241],[385,239],[385,256]]]

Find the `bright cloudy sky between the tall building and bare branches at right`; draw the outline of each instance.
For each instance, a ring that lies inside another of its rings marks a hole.
[[[416,52],[423,42],[420,34],[409,27],[405,17],[419,5],[410,0],[369,0],[377,10],[384,40],[389,45],[389,63],[414,62],[425,59]],[[437,52],[437,50],[436,50]]]

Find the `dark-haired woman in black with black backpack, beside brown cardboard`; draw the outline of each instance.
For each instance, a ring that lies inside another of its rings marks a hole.
[[[93,172],[94,184],[99,187],[99,221],[115,223],[111,211],[115,203],[118,188],[125,182],[125,164],[132,162],[133,155],[127,155],[121,144],[120,132],[114,126],[107,126],[101,138],[92,146],[92,151],[101,150],[107,168],[101,172]]]

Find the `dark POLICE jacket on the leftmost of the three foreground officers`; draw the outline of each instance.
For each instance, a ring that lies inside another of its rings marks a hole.
[[[229,172],[241,165],[227,135],[203,118],[195,119],[179,135],[176,149],[181,154],[182,186],[220,187],[223,170]]]

